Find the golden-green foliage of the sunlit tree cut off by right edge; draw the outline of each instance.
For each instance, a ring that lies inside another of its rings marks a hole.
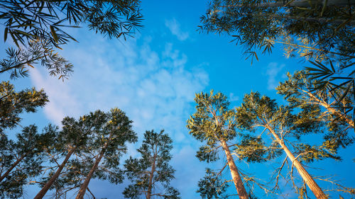
[[[337,150],[339,147],[346,147],[353,142],[349,136],[348,129],[354,129],[354,118],[351,110],[354,110],[352,92],[347,93],[344,98],[342,89],[326,87],[322,90],[314,89],[317,81],[312,80],[304,71],[288,74],[288,79],[281,82],[276,88],[278,93],[284,96],[290,106],[300,110],[298,127],[319,121],[321,127],[327,128],[324,135],[324,147]],[[340,101],[339,101],[340,100]]]

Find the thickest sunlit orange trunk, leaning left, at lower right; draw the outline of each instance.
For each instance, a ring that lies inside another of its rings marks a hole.
[[[327,195],[325,195],[323,193],[323,191],[320,188],[320,186],[318,186],[318,184],[315,182],[315,180],[312,178],[312,176],[310,176],[310,174],[308,174],[308,172],[302,166],[300,161],[298,161],[295,158],[295,156],[292,154],[292,152],[290,152],[290,149],[288,149],[288,147],[285,145],[283,140],[280,140],[280,137],[278,137],[278,135],[275,133],[275,131],[270,126],[267,126],[267,128],[271,132],[273,137],[275,137],[275,140],[278,142],[278,144],[280,144],[280,146],[283,148],[285,153],[288,155],[288,158],[292,161],[292,164],[295,165],[298,173],[302,176],[303,181],[305,181],[305,183],[310,188],[312,193],[315,194],[315,197],[318,198],[318,199],[320,199],[320,198],[321,199],[327,199]]]

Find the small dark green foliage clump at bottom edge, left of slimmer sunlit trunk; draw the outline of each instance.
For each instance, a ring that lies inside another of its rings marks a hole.
[[[221,179],[220,173],[206,169],[206,175],[199,181],[198,187],[197,193],[200,193],[202,198],[217,199],[226,198],[225,192],[228,184]]]

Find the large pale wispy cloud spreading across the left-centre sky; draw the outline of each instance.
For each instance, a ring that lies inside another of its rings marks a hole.
[[[66,115],[77,118],[89,111],[118,107],[133,120],[138,137],[145,130],[165,129],[174,140],[177,174],[189,176],[191,184],[197,184],[202,173],[180,164],[187,159],[194,164],[198,161],[196,142],[187,139],[190,135],[185,125],[194,109],[195,93],[208,84],[208,74],[201,67],[188,65],[187,56],[170,43],[158,52],[151,50],[149,40],[143,45],[137,45],[136,40],[122,45],[92,36],[81,46],[62,53],[75,65],[73,76],[64,83],[48,76],[44,69],[32,72],[33,84],[44,88],[50,98],[45,115],[60,124]],[[129,149],[129,155],[135,156],[134,147]],[[196,166],[204,171],[203,165]],[[185,187],[185,180],[177,178],[175,186]],[[191,198],[191,194],[195,192],[182,191],[184,198]]]

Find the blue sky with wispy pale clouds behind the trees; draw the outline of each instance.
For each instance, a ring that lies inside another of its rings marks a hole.
[[[65,116],[79,118],[97,109],[120,108],[133,120],[133,130],[140,140],[129,145],[124,158],[138,156],[135,148],[140,146],[146,130],[164,129],[173,139],[171,164],[176,173],[172,185],[178,188],[182,198],[200,198],[196,193],[197,182],[204,176],[204,169],[222,166],[225,158],[207,165],[195,157],[201,143],[189,135],[185,127],[189,115],[195,112],[195,93],[221,91],[231,101],[231,108],[239,106],[244,94],[251,91],[284,103],[276,94],[275,86],[285,80],[286,72],[292,73],[307,65],[300,59],[286,59],[280,46],[276,46],[271,55],[258,55],[259,60],[251,64],[251,59],[242,55],[243,47],[230,42],[231,38],[199,33],[197,25],[207,5],[207,1],[200,0],[143,1],[144,27],[127,40],[109,40],[87,28],[68,30],[79,41],[70,42],[60,51],[60,55],[74,65],[69,79],[58,80],[38,66],[31,69],[29,78],[11,80],[17,89],[29,86],[44,89],[50,100],[38,113],[24,114],[22,125],[60,125]],[[1,42],[1,45],[6,44]],[[1,47],[1,55],[4,49]],[[0,78],[9,80],[4,74]],[[342,149],[344,160],[341,162],[325,160],[310,164],[322,168],[310,168],[310,173],[332,175],[344,186],[354,187],[354,149],[354,146]],[[242,161],[236,164],[261,178],[270,176],[277,165],[247,165]],[[122,198],[121,192],[127,183],[111,185],[93,180],[89,188],[97,198]],[[25,198],[33,198],[37,192],[38,188],[28,186]],[[285,188],[285,193],[289,193],[286,198],[297,198],[290,188]]]

